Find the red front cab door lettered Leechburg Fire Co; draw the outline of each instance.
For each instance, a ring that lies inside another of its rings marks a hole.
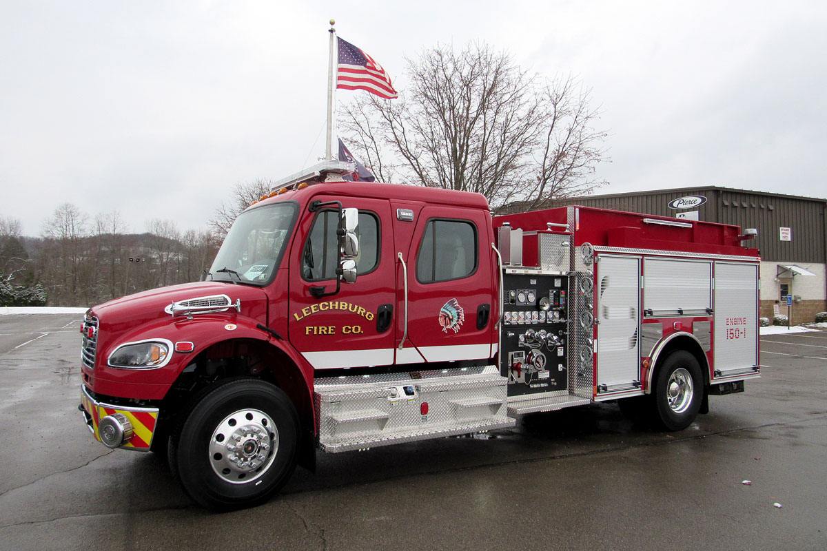
[[[338,211],[305,208],[290,251],[289,340],[316,369],[389,365],[394,362],[396,283],[390,203],[314,198],[359,209],[356,282],[342,281],[339,292],[313,296],[313,287],[323,287],[325,293],[337,287]]]

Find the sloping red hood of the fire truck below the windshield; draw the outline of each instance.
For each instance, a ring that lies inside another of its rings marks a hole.
[[[134,295],[93,306],[92,314],[97,316],[100,324],[106,325],[108,330],[121,333],[160,318],[171,320],[172,316],[165,311],[165,308],[172,302],[216,295],[226,295],[230,298],[231,304],[241,301],[240,312],[237,312],[234,307],[228,310],[233,315],[248,316],[266,323],[267,295],[263,289],[217,282],[184,283],[137,292]]]

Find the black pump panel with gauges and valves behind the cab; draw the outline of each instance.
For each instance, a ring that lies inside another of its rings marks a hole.
[[[567,390],[568,292],[567,276],[506,270],[500,374],[509,397]]]

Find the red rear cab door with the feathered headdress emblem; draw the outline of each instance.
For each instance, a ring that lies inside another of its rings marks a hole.
[[[397,270],[397,344],[406,338],[396,350],[396,363],[490,359],[496,321],[491,316],[495,271],[490,215],[427,204],[409,210],[413,221],[394,219],[408,287],[406,305],[404,270]],[[403,227],[411,224],[413,231]]]

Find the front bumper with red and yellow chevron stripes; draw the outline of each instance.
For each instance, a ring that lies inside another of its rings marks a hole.
[[[119,425],[128,424],[130,430],[123,435],[120,444],[106,445],[110,448],[131,449],[137,452],[150,450],[152,436],[155,435],[155,423],[158,420],[157,408],[112,406],[95,400],[89,395],[86,386],[81,385],[78,409],[84,414],[84,421],[98,442],[104,443],[100,435],[101,421],[110,417],[120,420]],[[111,425],[112,419],[104,423],[107,424]]]

